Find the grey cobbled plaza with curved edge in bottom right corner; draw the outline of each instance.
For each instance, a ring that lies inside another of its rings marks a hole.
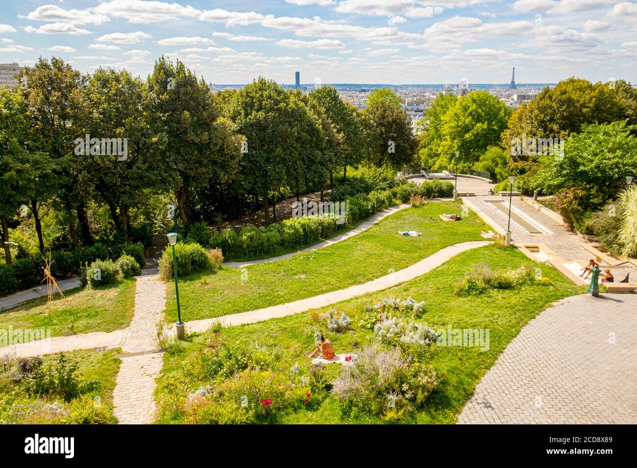
[[[458,423],[637,423],[637,295],[577,295],[526,325]]]

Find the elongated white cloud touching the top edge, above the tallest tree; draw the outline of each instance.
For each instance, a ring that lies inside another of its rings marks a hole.
[[[190,5],[145,0],[110,0],[89,10],[138,24],[176,20],[180,17],[196,18],[201,14],[201,11]]]

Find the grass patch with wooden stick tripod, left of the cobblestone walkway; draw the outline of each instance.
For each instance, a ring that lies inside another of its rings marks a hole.
[[[47,297],[0,311],[0,329],[46,329],[51,336],[87,332],[111,332],[131,323],[135,309],[135,280],[120,280],[117,286],[75,288],[55,294],[51,309]]]

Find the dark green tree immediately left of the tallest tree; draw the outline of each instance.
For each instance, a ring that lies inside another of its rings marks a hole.
[[[178,184],[178,176],[161,157],[167,137],[164,133],[155,134],[151,128],[147,87],[128,71],[97,69],[87,83],[86,101],[90,117],[85,132],[125,150],[124,155],[115,153],[115,145],[110,144],[95,154],[79,148],[78,157],[127,242],[131,208],[146,204],[153,192]]]

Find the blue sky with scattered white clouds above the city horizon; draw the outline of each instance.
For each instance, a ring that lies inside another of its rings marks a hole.
[[[206,82],[637,82],[637,0],[0,0],[0,63]]]

